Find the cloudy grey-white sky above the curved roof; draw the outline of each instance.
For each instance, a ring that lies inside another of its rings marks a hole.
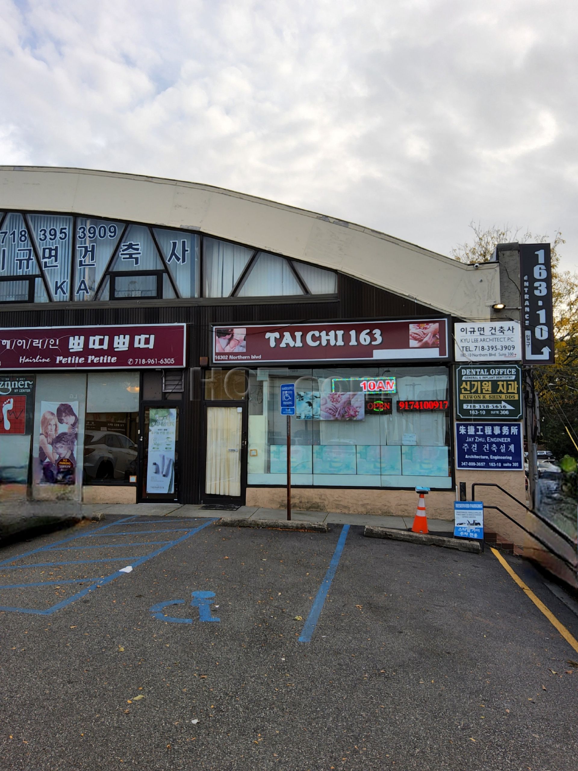
[[[578,268],[571,0],[0,0],[0,163],[229,187]]]

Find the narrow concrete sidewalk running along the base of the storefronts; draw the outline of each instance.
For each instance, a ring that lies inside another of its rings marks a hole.
[[[241,506],[235,511],[205,509],[194,503],[46,503],[42,501],[0,504],[0,524],[5,517],[18,518],[19,522],[29,517],[76,520],[90,519],[97,514],[116,517],[243,517],[255,520],[284,520],[284,509],[264,509],[255,506]],[[327,524],[372,525],[375,527],[397,527],[407,530],[412,527],[413,517],[391,517],[382,514],[344,514],[326,511],[292,510],[291,519],[300,522],[323,522]],[[450,520],[428,519],[428,528],[433,532],[449,532],[453,528]]]

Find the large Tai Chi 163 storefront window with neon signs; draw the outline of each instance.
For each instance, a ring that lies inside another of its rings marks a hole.
[[[294,484],[452,487],[445,367],[251,372],[248,484],[286,482],[286,418],[279,409],[284,382],[294,382],[297,392]]]

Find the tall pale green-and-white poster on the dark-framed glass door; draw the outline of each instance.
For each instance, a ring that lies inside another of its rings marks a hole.
[[[156,495],[175,489],[176,409],[151,407],[146,492]]]

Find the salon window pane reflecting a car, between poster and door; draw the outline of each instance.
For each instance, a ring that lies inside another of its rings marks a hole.
[[[138,426],[139,373],[89,373],[84,484],[129,482],[136,474]]]

